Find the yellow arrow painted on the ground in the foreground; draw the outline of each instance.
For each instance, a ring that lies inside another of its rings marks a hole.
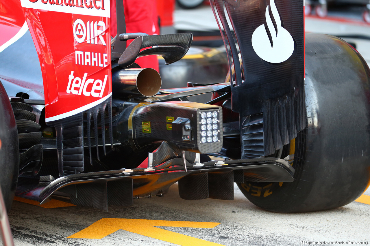
[[[110,219],[103,218],[89,227],[69,236],[68,238],[101,239],[119,229],[137,233],[150,238],[182,246],[224,246],[206,240],[193,238],[180,233],[157,228],[155,226],[188,227],[188,228],[214,228],[221,223],[216,222],[189,222],[189,221],[157,221],[152,219]]]

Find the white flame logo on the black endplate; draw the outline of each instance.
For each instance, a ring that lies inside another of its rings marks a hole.
[[[276,23],[275,26],[269,14],[269,6],[267,6],[265,16],[271,38],[265,24],[262,24],[252,34],[252,47],[263,60],[278,64],[287,61],[293,55],[295,44],[292,35],[282,27],[274,0],[270,0],[270,6],[272,17]]]

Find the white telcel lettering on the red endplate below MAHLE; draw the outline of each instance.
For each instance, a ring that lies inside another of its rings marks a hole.
[[[100,79],[88,79],[86,80],[87,73],[84,74],[83,78],[75,77],[73,75],[74,71],[71,71],[71,74],[68,76],[68,86],[67,86],[67,93],[74,94],[74,95],[81,95],[83,93],[84,96],[94,96],[95,98],[101,98],[103,96],[103,92],[105,89],[105,85],[107,84],[108,75],[105,75],[104,81]],[[92,83],[91,90],[88,90],[89,84]]]

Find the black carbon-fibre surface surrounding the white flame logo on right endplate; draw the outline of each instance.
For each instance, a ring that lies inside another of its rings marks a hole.
[[[239,112],[240,118],[263,113],[264,156],[273,154],[305,128],[303,1],[275,0],[282,26],[292,35],[296,45],[293,56],[282,64],[263,61],[252,47],[253,32],[260,25],[266,25],[265,10],[270,1],[211,2],[225,29],[225,44],[231,48],[229,63],[233,62],[235,67],[232,109]],[[226,15],[232,19],[242,66]]]

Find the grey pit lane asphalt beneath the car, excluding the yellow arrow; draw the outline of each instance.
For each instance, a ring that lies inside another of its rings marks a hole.
[[[302,241],[370,242],[369,204],[355,201],[329,211],[284,214],[253,205],[236,185],[234,192],[234,201],[186,201],[179,197],[178,185],[174,184],[163,198],[135,199],[132,207],[109,206],[108,212],[83,206],[42,208],[14,201],[9,220],[14,243],[19,246],[175,245],[125,230],[108,233],[102,239],[67,238],[102,218],[189,221],[189,225],[218,222],[221,224],[214,228],[159,228],[227,246],[301,245]],[[370,189],[365,194],[370,195]],[[109,225],[102,225],[98,230],[109,230]]]

